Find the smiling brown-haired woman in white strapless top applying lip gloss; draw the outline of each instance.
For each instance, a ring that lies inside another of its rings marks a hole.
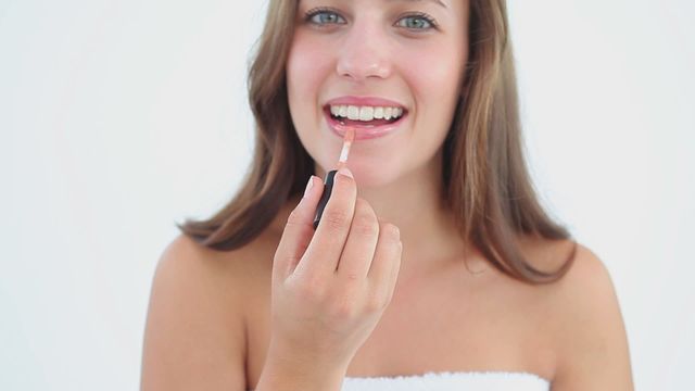
[[[142,388],[632,389],[606,268],[534,194],[515,84],[504,0],[270,1],[252,169],[163,254]]]

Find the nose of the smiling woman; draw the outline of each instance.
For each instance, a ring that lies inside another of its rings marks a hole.
[[[391,75],[390,46],[384,31],[376,24],[365,22],[355,23],[345,34],[342,47],[338,49],[336,71],[339,76],[359,83]]]

